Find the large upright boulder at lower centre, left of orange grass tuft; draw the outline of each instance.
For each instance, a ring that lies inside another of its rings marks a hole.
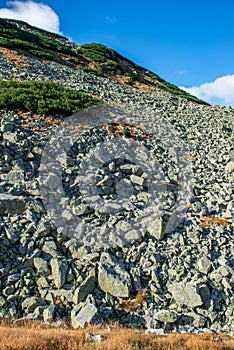
[[[98,271],[98,284],[104,292],[118,298],[128,298],[131,279],[129,273],[125,271],[123,263],[108,253],[102,253]]]

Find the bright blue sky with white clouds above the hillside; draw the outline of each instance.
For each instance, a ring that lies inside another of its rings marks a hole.
[[[106,44],[211,103],[234,106],[234,0],[0,1],[6,16]]]

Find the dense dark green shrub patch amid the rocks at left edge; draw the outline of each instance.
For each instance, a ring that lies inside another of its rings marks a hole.
[[[0,108],[69,116],[98,103],[85,93],[52,82],[0,81]]]

